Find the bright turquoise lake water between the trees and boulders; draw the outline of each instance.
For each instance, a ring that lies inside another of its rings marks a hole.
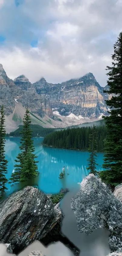
[[[41,173],[39,179],[39,188],[45,193],[58,193],[62,187],[61,180],[58,178],[63,167],[68,169],[69,175],[66,177],[66,186],[74,186],[77,182],[81,182],[88,175],[87,158],[88,152],[76,150],[56,149],[41,145],[42,138],[34,138],[35,154],[38,156],[38,170]],[[11,177],[14,169],[15,159],[20,145],[20,138],[7,138],[5,144],[6,159],[8,160],[8,174]],[[97,154],[97,170],[102,170],[104,154]],[[7,188],[11,189],[11,185],[7,184]]]

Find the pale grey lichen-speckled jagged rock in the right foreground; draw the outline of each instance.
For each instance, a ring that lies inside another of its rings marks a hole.
[[[90,174],[81,182],[81,190],[71,200],[71,207],[81,233],[90,234],[98,228],[110,231],[111,252],[122,247],[122,203],[107,186]]]

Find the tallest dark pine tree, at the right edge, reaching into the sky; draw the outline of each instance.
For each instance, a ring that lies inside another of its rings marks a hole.
[[[107,126],[107,138],[105,140],[105,158],[100,178],[111,188],[122,182],[122,32],[114,44],[112,55],[112,67],[107,69],[109,76],[107,94],[113,94],[106,100],[109,106],[109,116],[104,117]]]

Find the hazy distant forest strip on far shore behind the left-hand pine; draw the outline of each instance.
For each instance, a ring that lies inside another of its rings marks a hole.
[[[23,125],[20,125],[16,131],[10,132],[9,134],[7,133],[6,136],[21,137],[20,132],[22,131],[22,128]],[[30,128],[32,130],[32,137],[45,137],[47,134],[55,131],[53,128],[43,128],[38,124],[31,124]]]

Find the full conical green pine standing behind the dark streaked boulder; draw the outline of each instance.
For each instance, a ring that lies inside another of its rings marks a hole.
[[[32,131],[30,129],[31,118],[28,108],[25,112],[25,117],[23,119],[23,129],[21,131],[21,146],[19,147],[21,153],[18,154],[15,162],[15,172],[12,173],[9,183],[16,183],[21,181],[27,181],[29,178],[38,176],[37,163],[35,161],[34,145],[31,137]]]

